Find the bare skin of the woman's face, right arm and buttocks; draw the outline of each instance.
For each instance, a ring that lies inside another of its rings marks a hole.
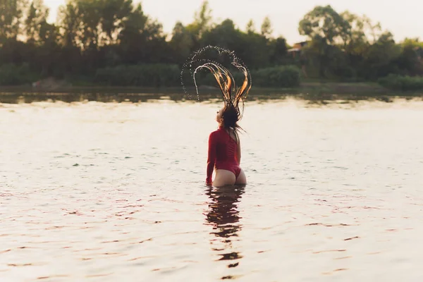
[[[216,121],[219,123],[219,125],[223,125],[222,120],[222,111],[217,112],[216,115]],[[235,141],[237,141],[237,138],[235,137],[235,133],[233,130],[228,132],[229,136]],[[241,162],[241,143],[238,138],[238,146],[237,146],[237,152],[236,152],[236,159],[238,161],[238,164]],[[241,172],[238,176],[238,178],[235,177],[235,174],[232,171],[226,171],[226,169],[216,169],[214,176],[213,185],[216,187],[221,187],[225,185],[245,185],[247,184],[247,176],[245,176],[245,173],[243,169],[241,168]]]

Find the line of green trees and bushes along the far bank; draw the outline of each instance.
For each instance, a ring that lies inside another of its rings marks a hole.
[[[413,81],[413,89],[423,89],[423,42],[395,42],[379,23],[331,6],[316,6],[300,21],[298,32],[307,37],[300,49],[272,36],[269,18],[259,28],[252,20],[243,29],[231,19],[216,23],[208,1],[192,23],[176,23],[171,34],[132,0],[68,0],[56,23],[47,22],[42,0],[0,0],[0,11],[0,85],[53,77],[176,86],[190,54],[216,45],[235,51],[259,86],[293,87],[300,78],[321,78],[379,81],[399,89]]]

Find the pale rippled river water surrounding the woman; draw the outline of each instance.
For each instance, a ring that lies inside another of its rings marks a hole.
[[[423,102],[0,104],[0,281],[422,281]]]

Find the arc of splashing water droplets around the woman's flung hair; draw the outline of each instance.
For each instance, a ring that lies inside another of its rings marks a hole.
[[[214,54],[212,53],[214,52]],[[237,87],[233,74],[223,66],[223,63],[218,63],[210,59],[211,57],[218,57],[221,61],[229,62],[228,64],[235,67],[236,71],[243,73],[244,81],[241,87]],[[197,101],[200,102],[200,94],[198,91],[198,84],[195,75],[202,70],[210,71],[223,94],[223,99],[226,103],[238,104],[240,100],[246,99],[248,92],[251,88],[251,75],[247,66],[238,56],[235,55],[234,51],[223,49],[216,46],[207,46],[202,49],[195,51],[192,56],[185,62],[183,69],[180,73],[180,82],[188,98],[192,96],[188,93],[187,87],[185,87],[184,78],[189,75],[189,80],[193,82],[195,86],[195,92],[197,94]],[[235,93],[233,95],[233,93]]]

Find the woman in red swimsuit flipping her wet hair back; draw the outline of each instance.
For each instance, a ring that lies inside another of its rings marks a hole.
[[[207,185],[221,187],[225,185],[245,185],[247,178],[240,168],[241,145],[238,130],[238,121],[243,116],[239,103],[246,97],[250,90],[249,73],[247,68],[238,65],[243,71],[245,80],[242,87],[236,88],[233,76],[225,68],[214,63],[205,64],[204,67],[212,71],[223,94],[223,109],[217,112],[216,121],[219,129],[209,135],[209,149],[207,157]],[[233,96],[235,92],[235,96]],[[243,107],[242,107],[243,109]],[[212,173],[216,169],[214,181]]]

